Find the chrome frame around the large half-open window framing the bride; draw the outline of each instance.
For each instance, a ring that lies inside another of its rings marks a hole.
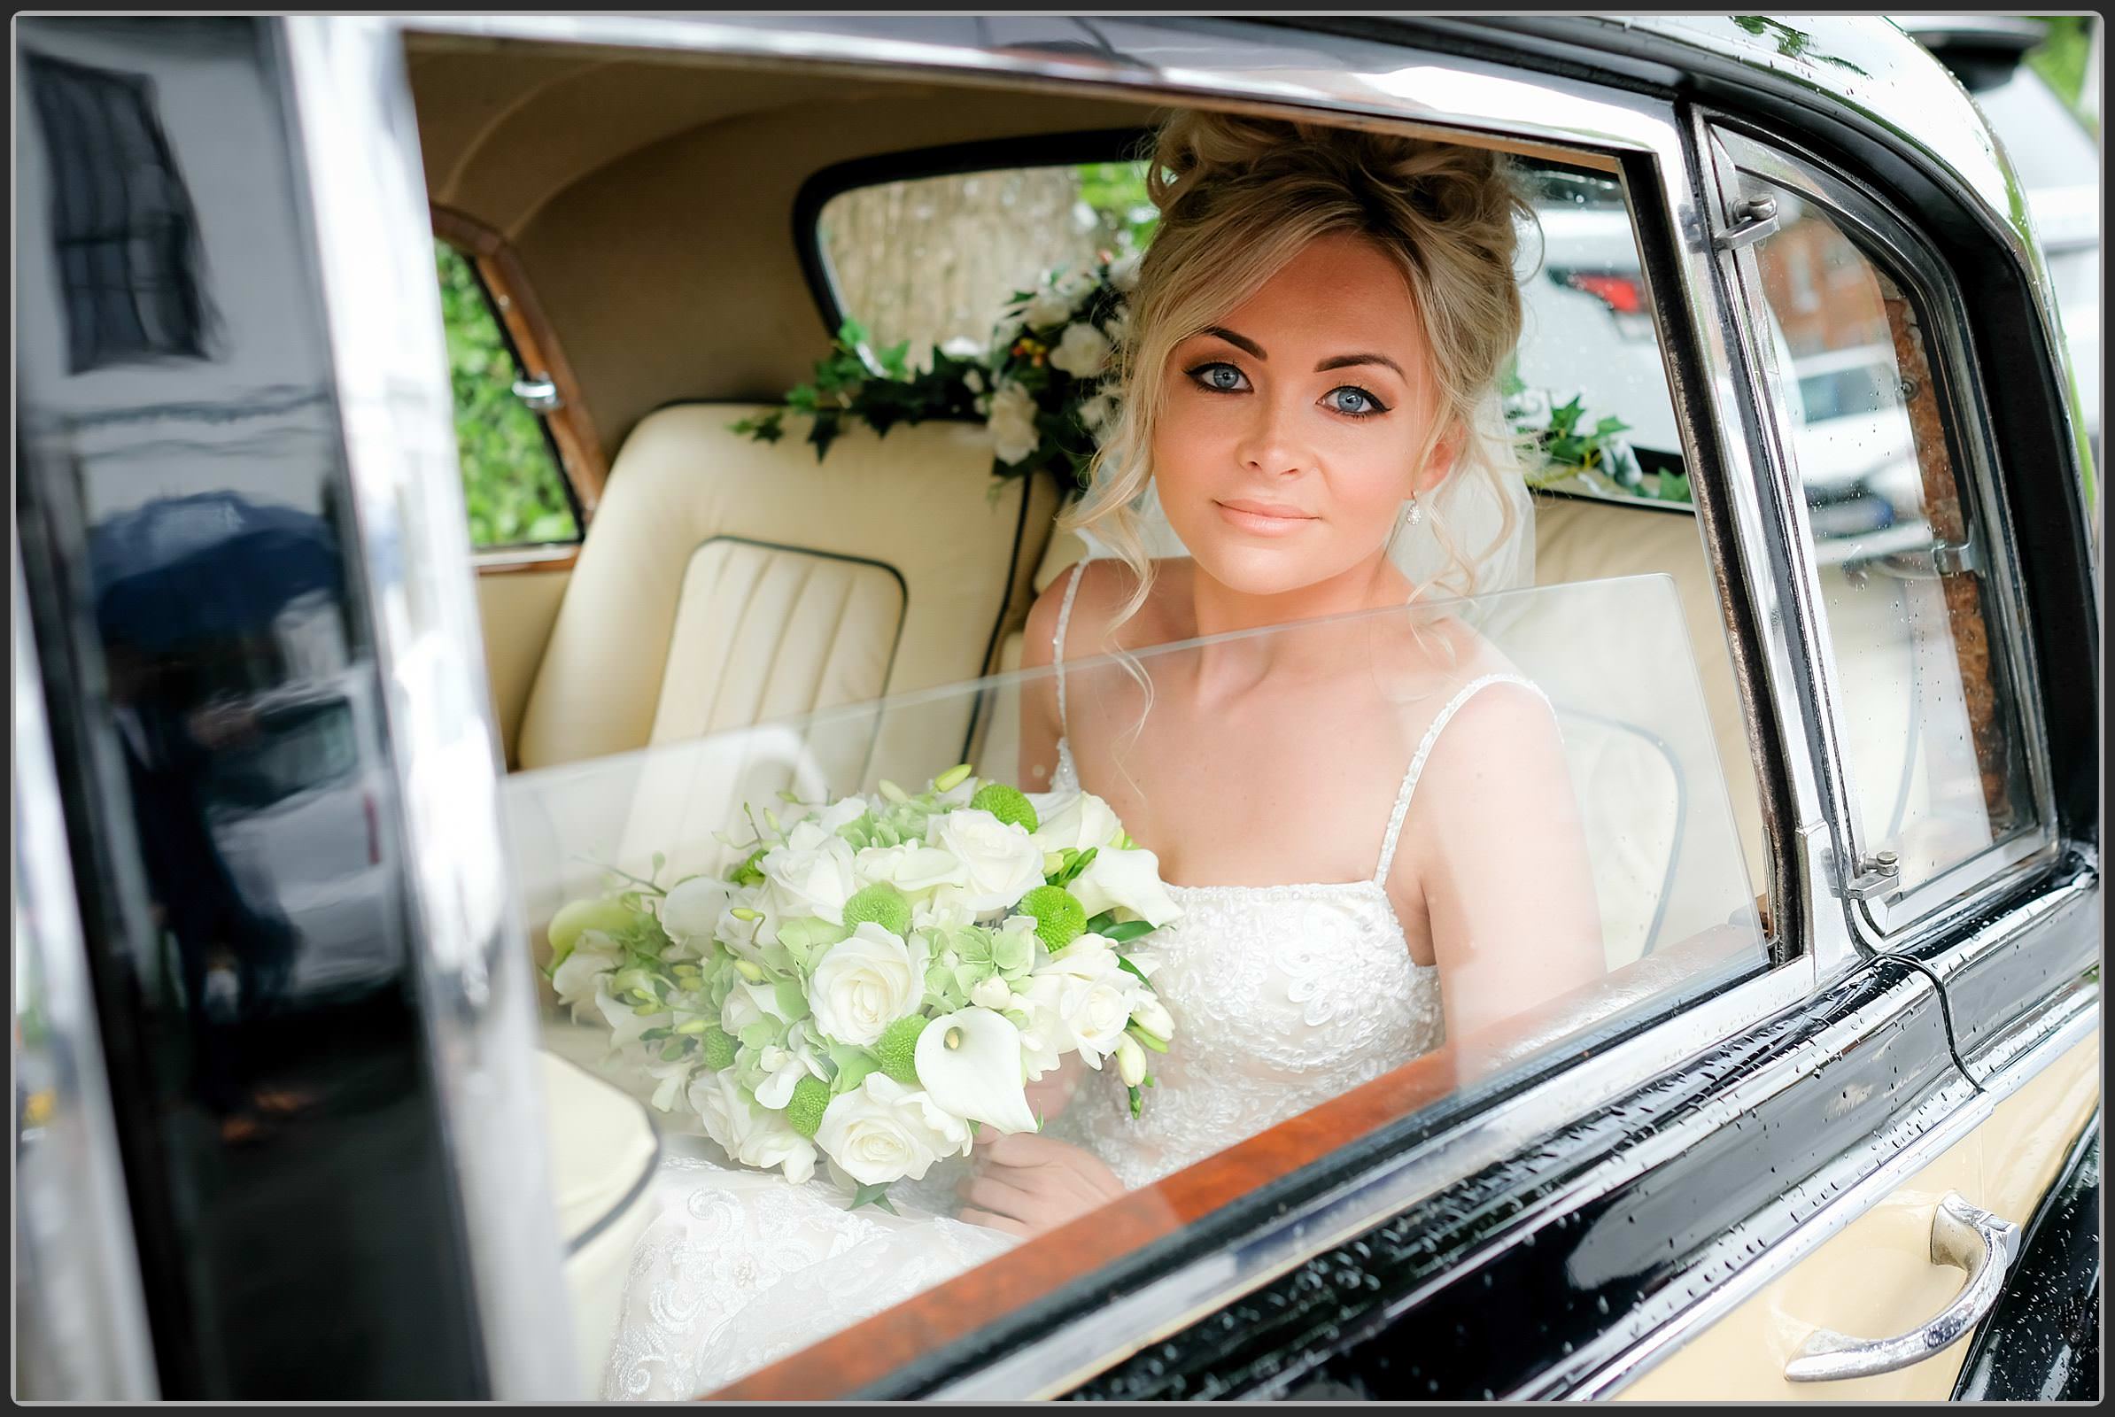
[[[374,25],[376,34],[387,32],[391,38],[419,32],[472,42],[525,40],[635,49],[670,57],[698,55],[711,61],[785,61],[865,76],[880,70],[903,78],[988,80],[1007,89],[1043,87],[1129,102],[1199,102],[1242,112],[1316,114],[1335,123],[1371,121],[1398,131],[1495,142],[1512,150],[1542,146],[1569,163],[1603,154],[1605,167],[1624,178],[1633,233],[1637,214],[1648,201],[1656,220],[1673,233],[1675,264],[1660,271],[1648,258],[1643,277],[1652,290],[1662,357],[1669,360],[1684,455],[1690,467],[1719,472],[1717,478],[1694,478],[1692,489],[1696,489],[1707,558],[1722,584],[1719,605],[1747,715],[1751,766],[1764,787],[1764,835],[1766,850],[1772,852],[1772,926],[1779,943],[1772,969],[1645,1026],[1590,1060],[1538,1076],[1502,1104],[1364,1174],[1343,1178],[1341,1186],[1309,1206],[1267,1220],[1239,1246],[1163,1271],[1146,1286],[1015,1347],[1003,1360],[935,1396],[969,1396],[986,1390],[986,1381],[996,1381],[998,1375],[1007,1375],[1015,1390],[1058,1392],[1079,1377],[1083,1364],[1100,1368],[1117,1362],[1146,1341],[1142,1335],[1165,1328],[1167,1303],[1180,1303],[1191,1311],[1220,1307],[1330,1248],[1332,1237],[1358,1233],[1417,1197],[1436,1193],[1474,1170],[1481,1159],[1508,1155],[1525,1138],[1546,1134],[1586,1108],[1626,1096],[1684,1057],[1813,996],[1819,983],[1817,960],[1832,958],[1825,947],[1827,931],[1838,916],[1813,905],[1817,876],[1808,844],[1817,840],[1827,816],[1810,768],[1806,719],[1794,694],[1796,685],[1804,683],[1800,673],[1804,658],[1781,609],[1798,594],[1800,584],[1783,544],[1772,535],[1774,503],[1758,495],[1758,478],[1768,465],[1768,444],[1751,423],[1751,406],[1741,398],[1732,364],[1741,332],[1726,317],[1715,288],[1709,241],[1713,222],[1703,207],[1715,190],[1696,165],[1690,129],[1671,99],[1546,76],[1527,66],[1464,59],[1398,42],[1263,30],[1231,19],[1098,21],[1098,38],[1100,32],[1108,32],[1119,40],[1144,38],[1157,44],[1153,63],[1127,61],[1115,51],[1106,61],[1034,55],[1019,49],[994,51],[990,38],[979,38],[977,32],[977,25],[992,23],[983,17],[802,17],[795,21],[802,27],[791,27],[787,17],[751,21],[645,15],[442,15],[357,23]],[[905,40],[901,32],[907,27],[937,38]],[[1288,49],[1299,42],[1326,49],[1326,63],[1288,66]],[[400,144],[396,163],[415,173],[419,150],[408,118],[396,129],[396,137]],[[1626,163],[1650,169],[1656,186],[1639,192],[1624,171]],[[387,235],[398,241],[410,235],[423,239],[425,226],[404,222],[404,233]],[[1643,241],[1639,245],[1648,250]],[[402,252],[398,262],[404,264]],[[417,300],[406,294],[410,309],[425,309],[429,302],[429,292]],[[1686,357],[1669,341],[1671,330],[1684,334],[1681,349],[1696,351],[1703,387],[1692,385]],[[429,336],[419,341],[421,347],[423,343],[429,343]],[[1715,446],[1705,444],[1698,421]],[[459,539],[467,546],[467,537]],[[455,554],[465,552],[457,548]],[[1728,582],[1736,582],[1753,601],[1753,624],[1736,624],[1726,592]],[[474,620],[467,626],[459,624],[457,630],[465,645],[480,643]],[[476,660],[476,656],[465,658]],[[1760,666],[1760,673],[1753,666]],[[1783,744],[1777,759],[1770,759],[1764,747],[1772,740]],[[1789,799],[1791,821],[1772,810],[1774,791]],[[510,920],[510,926],[518,931],[518,922]],[[1819,952],[1817,941],[1823,945]],[[520,935],[512,935],[510,943],[522,950]],[[527,1043],[522,1049],[527,1062]]]

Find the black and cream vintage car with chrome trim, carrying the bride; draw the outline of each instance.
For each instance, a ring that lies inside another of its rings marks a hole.
[[[725,763],[1005,776],[1085,550],[981,423],[730,425],[918,281],[981,332],[1100,239],[1030,178],[1174,106],[1540,176],[1519,368],[1641,478],[1538,495],[1489,632],[1588,660],[1607,975],[713,1396],[2098,1396],[2094,465],[1899,27],[25,17],[15,85],[17,1396],[626,1387],[709,1142],[556,1007],[552,912]],[[436,258],[503,330],[453,383]],[[465,503],[472,374],[556,510]]]

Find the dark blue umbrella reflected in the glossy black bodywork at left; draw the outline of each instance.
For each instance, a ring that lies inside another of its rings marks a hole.
[[[258,630],[343,577],[330,522],[235,493],[163,497],[99,522],[89,569],[104,637],[148,654]]]

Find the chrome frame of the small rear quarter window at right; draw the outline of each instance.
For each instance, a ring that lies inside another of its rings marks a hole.
[[[1916,939],[1937,937],[2011,892],[2024,878],[2056,861],[2062,844],[2056,833],[2054,785],[2049,780],[2047,730],[2041,719],[2039,685],[2028,609],[2018,575],[2013,527],[1999,495],[2001,459],[1990,442],[1990,417],[1984,379],[1975,360],[1975,343],[1967,324],[1965,302],[1948,266],[1931,252],[1916,224],[1893,211],[1868,188],[1857,186],[1823,159],[1770,135],[1760,137],[1734,114],[1698,112],[1709,152],[1717,165],[1722,203],[1741,195],[1741,178],[1751,176],[1796,190],[1834,220],[1844,235],[1878,252],[1893,269],[1889,277],[1906,286],[1912,300],[1929,315],[1931,360],[1942,376],[1942,419],[1958,450],[1954,478],[1969,508],[1969,527],[1984,558],[1980,582],[1988,632],[2003,641],[1999,654],[2011,679],[2011,704],[2018,715],[2020,757],[2024,759],[2030,823],[2022,823],[1986,848],[1961,859],[1910,890],[1891,892],[1878,901],[1853,901],[1842,895],[1849,939],[1859,952],[1899,950]],[[1832,787],[1832,863],[1863,859],[1859,816],[1855,810],[1857,778],[1842,751],[1836,717],[1838,673],[1836,649],[1821,605],[1821,573],[1815,563],[1815,539],[1806,520],[1806,497],[1798,482],[1798,459],[1791,442],[1791,417],[1785,406],[1777,355],[1764,330],[1768,307],[1762,290],[1753,245],[1722,254],[1734,290],[1736,321],[1743,328],[1747,353],[1758,370],[1753,381],[1758,408],[1766,410],[1770,436],[1777,442],[1774,495],[1796,541],[1787,548],[1800,563],[1802,622],[1810,645],[1806,673],[1817,700],[1817,749],[1823,755],[1823,778]],[[1840,888],[1834,865],[1832,890]],[[1849,960],[1844,960],[1849,962]]]

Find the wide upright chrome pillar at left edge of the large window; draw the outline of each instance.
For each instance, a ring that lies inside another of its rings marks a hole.
[[[387,17],[279,17],[302,235],[317,252],[360,592],[374,615],[427,1066],[486,1392],[577,1396],[535,1062],[535,992],[499,814],[470,516],[457,474],[425,167]],[[465,654],[476,647],[478,651]]]

